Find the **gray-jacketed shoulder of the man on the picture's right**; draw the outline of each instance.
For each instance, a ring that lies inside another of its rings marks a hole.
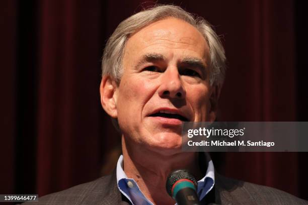
[[[235,201],[234,204],[308,204],[308,201],[268,186],[227,178],[219,174],[215,175],[215,181],[221,201]]]

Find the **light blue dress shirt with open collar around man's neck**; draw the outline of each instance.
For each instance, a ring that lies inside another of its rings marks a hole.
[[[207,159],[210,159],[207,153],[205,153],[205,156]],[[119,157],[117,163],[117,182],[121,193],[126,196],[132,204],[152,205],[152,202],[150,202],[141,192],[135,180],[127,178],[123,170],[123,155]],[[214,183],[214,165],[212,160],[208,160],[206,174],[202,179],[198,181],[197,193],[199,200],[202,200],[204,196],[213,188]]]

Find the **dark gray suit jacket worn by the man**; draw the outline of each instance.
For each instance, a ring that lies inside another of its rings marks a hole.
[[[215,173],[215,203],[216,204],[308,204],[284,191],[226,178]],[[122,200],[117,187],[116,171],[95,181],[80,184],[69,189],[40,197],[39,202],[27,202],[25,205],[39,204],[129,204]]]

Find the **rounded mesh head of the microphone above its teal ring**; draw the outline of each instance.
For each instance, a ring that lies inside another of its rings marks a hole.
[[[191,173],[189,173],[185,169],[175,170],[175,171],[173,171],[169,174],[169,176],[167,178],[167,182],[166,182],[167,192],[173,198],[174,198],[173,190],[174,190],[175,186],[178,184],[178,182],[180,182],[180,181],[185,181],[185,182],[191,183],[194,186],[195,189],[197,187],[197,181]]]

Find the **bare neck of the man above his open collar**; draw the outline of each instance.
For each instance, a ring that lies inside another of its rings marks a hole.
[[[142,193],[154,204],[175,204],[166,191],[168,175],[175,169],[187,169],[197,179],[202,178],[197,152],[153,151],[145,146],[129,146],[122,136],[123,166],[128,178],[133,178]],[[133,144],[133,143],[131,143]]]

